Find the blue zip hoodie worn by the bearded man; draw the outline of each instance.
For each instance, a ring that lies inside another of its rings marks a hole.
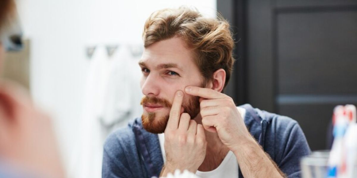
[[[298,123],[249,104],[240,107],[246,109],[244,122],[249,132],[281,171],[289,178],[300,177],[300,158],[310,154],[310,148]],[[143,129],[140,118],[112,133],[105,142],[103,178],[159,177],[163,165],[159,138]]]

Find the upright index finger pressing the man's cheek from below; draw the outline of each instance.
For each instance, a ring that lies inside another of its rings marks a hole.
[[[178,122],[180,121],[181,105],[183,99],[183,92],[181,90],[176,91],[174,101],[170,110],[169,121],[167,121],[167,127],[170,129],[177,129]]]

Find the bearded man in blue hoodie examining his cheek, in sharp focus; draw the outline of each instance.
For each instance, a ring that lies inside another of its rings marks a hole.
[[[236,107],[222,91],[230,79],[233,40],[222,19],[181,7],[154,12],[144,27],[144,113],[111,134],[104,178],[166,176],[300,177],[310,153],[296,121]]]

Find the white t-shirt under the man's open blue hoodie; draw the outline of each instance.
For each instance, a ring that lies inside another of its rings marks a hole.
[[[246,110],[244,108],[237,107],[244,119]],[[158,134],[162,158],[166,161],[164,150],[164,133]],[[221,164],[214,170],[208,172],[197,171],[196,175],[201,178],[217,178],[217,177],[238,177],[238,162],[236,156],[232,151],[229,151]]]

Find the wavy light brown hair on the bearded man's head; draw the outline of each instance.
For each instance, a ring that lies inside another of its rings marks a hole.
[[[195,62],[204,84],[222,68],[226,71],[226,87],[234,63],[234,41],[230,25],[222,16],[218,15],[217,19],[203,17],[197,9],[185,6],[152,13],[145,22],[144,47],[172,37],[180,37],[188,49],[195,51]]]

